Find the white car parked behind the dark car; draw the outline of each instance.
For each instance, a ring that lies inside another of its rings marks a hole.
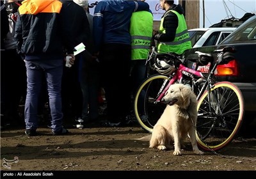
[[[218,45],[226,38],[236,27],[209,27],[189,29],[188,33],[191,39],[192,47],[203,47],[209,45]]]

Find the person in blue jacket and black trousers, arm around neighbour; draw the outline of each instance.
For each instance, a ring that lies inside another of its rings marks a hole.
[[[131,35],[132,12],[149,10],[140,1],[100,1],[93,14],[93,38],[99,54],[102,85],[105,89],[108,120],[105,126],[127,125],[131,113]]]

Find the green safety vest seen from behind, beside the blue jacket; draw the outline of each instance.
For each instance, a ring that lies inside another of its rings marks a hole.
[[[132,59],[147,59],[153,33],[153,15],[140,11],[132,13],[130,35]]]

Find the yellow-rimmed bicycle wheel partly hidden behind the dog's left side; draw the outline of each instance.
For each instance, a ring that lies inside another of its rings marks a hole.
[[[168,84],[165,75],[152,75],[142,82],[134,98],[134,113],[141,128],[152,133],[153,127],[163,113],[166,104],[157,101],[157,96]]]

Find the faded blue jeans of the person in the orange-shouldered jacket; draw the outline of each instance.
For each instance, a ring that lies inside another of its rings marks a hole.
[[[43,78],[45,78],[52,117],[51,128],[52,132],[57,132],[62,128],[63,120],[61,107],[63,59],[41,59],[25,62],[28,82],[24,113],[26,129],[36,130],[38,127],[38,99],[41,95]]]

